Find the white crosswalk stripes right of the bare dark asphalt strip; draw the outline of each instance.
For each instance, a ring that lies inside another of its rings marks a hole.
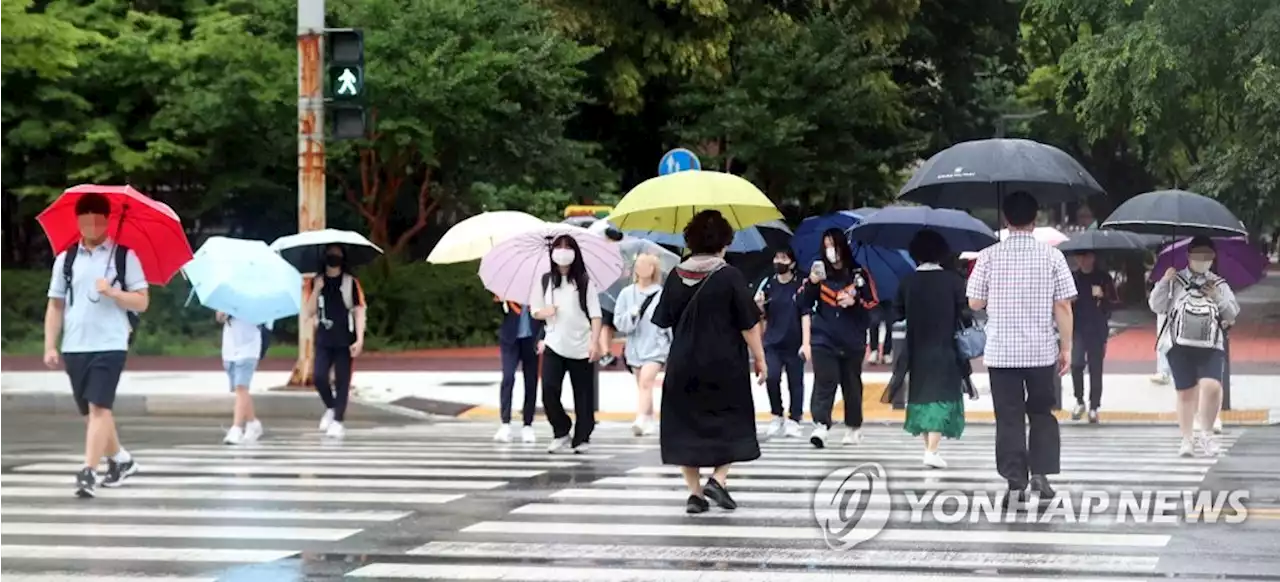
[[[484,427],[433,432],[436,429],[420,434],[424,439],[458,437],[475,430],[479,437]],[[1220,439],[1224,454],[1239,432]],[[1188,527],[1176,518],[1153,517],[1152,512],[1167,513],[1157,505],[1160,495],[1175,501],[1194,499],[1216,463],[1212,458],[1178,457],[1172,427],[1064,423],[1061,475],[1052,477],[1060,498],[1053,505],[1033,514],[1006,514],[1005,519],[996,505],[992,514],[966,513],[954,519],[954,505],[914,508],[922,494],[937,491],[998,499],[996,494],[1007,485],[995,468],[991,426],[974,425],[963,440],[945,441],[942,454],[950,468],[941,471],[922,466],[920,440],[897,426],[865,427],[864,434],[863,444],[841,445],[842,435],[836,430],[822,450],[806,439],[762,443],[759,460],[731,469],[728,485],[741,504],[736,512],[713,507],[701,515],[685,514],[689,494],[680,469],[659,464],[652,454],[635,457],[620,471],[585,482],[575,480],[547,498],[512,507],[500,518],[479,521],[448,539],[421,545],[408,551],[412,560],[376,562],[348,577],[973,582],[1152,576],[1172,536]],[[593,452],[609,450],[627,459],[621,455],[628,446],[657,445],[653,437],[612,435],[593,439]],[[814,521],[814,489],[832,471],[868,462],[884,467],[888,495],[863,499],[865,507],[859,510],[864,519],[884,519],[886,526],[854,549],[831,550]],[[1144,505],[1121,512],[1119,494],[1125,492]],[[1103,494],[1112,495],[1108,508],[1075,519],[1088,495]],[[1064,503],[1070,509],[1064,509]],[[993,576],[997,572],[1000,576]]]

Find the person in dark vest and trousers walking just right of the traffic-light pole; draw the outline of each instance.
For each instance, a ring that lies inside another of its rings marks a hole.
[[[316,322],[312,377],[325,405],[320,430],[333,439],[346,434],[342,422],[351,395],[351,363],[365,349],[365,304],[360,280],[346,270],[346,251],[340,244],[330,244],[325,249],[324,274],[315,278],[306,310]]]

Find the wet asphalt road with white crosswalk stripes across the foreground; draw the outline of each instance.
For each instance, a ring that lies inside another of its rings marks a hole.
[[[1116,495],[1111,508],[947,523],[956,500],[913,519],[906,496],[998,491],[989,426],[943,443],[945,471],[920,467],[897,426],[867,427],[860,445],[833,431],[826,450],[776,439],[731,476],[739,510],[689,517],[658,439],[621,425],[599,427],[589,454],[548,455],[545,423],[536,445],[495,444],[494,426],[471,422],[351,423],[343,443],[268,425],[236,449],[216,421],[120,423],[142,472],[86,501],[70,486],[83,425],[0,412],[0,579],[1280,581],[1280,427],[1229,426],[1221,458],[1180,459],[1172,427],[1065,426],[1055,484],[1076,510],[1085,492]],[[832,550],[813,490],[867,462],[888,480],[863,518],[887,524]],[[1123,491],[1240,489],[1243,523],[1117,518]]]

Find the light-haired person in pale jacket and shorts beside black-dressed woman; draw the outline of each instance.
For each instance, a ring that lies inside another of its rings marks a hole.
[[[613,308],[613,326],[627,336],[627,366],[636,376],[640,395],[636,404],[636,422],[631,426],[631,432],[643,436],[653,434],[653,386],[658,381],[658,372],[667,363],[671,330],[653,325],[653,310],[662,298],[662,270],[658,267],[658,257],[648,253],[636,256],[632,274],[634,283],[618,293],[618,303]]]

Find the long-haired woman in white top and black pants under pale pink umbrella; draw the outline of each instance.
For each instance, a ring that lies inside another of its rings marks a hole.
[[[586,453],[595,429],[595,361],[600,359],[600,289],[588,278],[577,240],[561,235],[550,246],[552,269],[530,298],[534,317],[547,322],[543,353],[543,411],[554,439],[547,449],[572,446]],[[564,412],[561,391],[564,374],[573,384],[573,416]],[[570,439],[570,429],[573,436]]]

